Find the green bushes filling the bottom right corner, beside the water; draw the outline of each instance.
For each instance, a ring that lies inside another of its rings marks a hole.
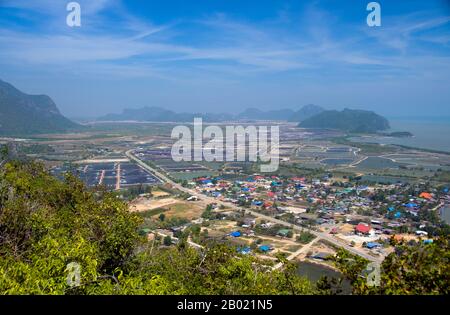
[[[345,250],[338,250],[333,258],[338,269],[350,281],[353,294],[424,295],[449,294],[450,247],[448,235],[433,243],[395,243],[395,251],[379,268],[379,285],[367,281],[368,261]],[[322,283],[323,284],[323,283]],[[331,281],[325,285],[332,287]]]

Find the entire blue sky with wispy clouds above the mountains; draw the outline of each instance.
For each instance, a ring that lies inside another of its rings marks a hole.
[[[71,117],[161,106],[450,116],[449,1],[0,0],[0,79]]]

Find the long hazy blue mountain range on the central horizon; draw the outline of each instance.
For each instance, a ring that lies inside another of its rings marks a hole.
[[[190,122],[194,117],[201,117],[204,121],[221,122],[230,120],[285,120],[301,122],[324,109],[316,105],[306,105],[299,110],[279,109],[263,111],[257,108],[248,108],[237,115],[214,113],[175,113],[160,107],[143,107],[138,109],[124,109],[121,114],[108,114],[99,117],[98,121],[153,121],[153,122]]]

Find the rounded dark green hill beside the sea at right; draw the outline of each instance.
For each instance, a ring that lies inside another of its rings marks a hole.
[[[389,121],[367,110],[326,110],[302,122],[302,128],[337,129],[354,133],[376,133],[390,128]]]

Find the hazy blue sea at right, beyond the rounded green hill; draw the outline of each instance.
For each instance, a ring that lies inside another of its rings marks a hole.
[[[450,152],[450,117],[391,118],[389,122],[389,132],[409,131],[414,137],[356,137],[353,140]]]

